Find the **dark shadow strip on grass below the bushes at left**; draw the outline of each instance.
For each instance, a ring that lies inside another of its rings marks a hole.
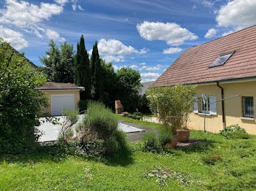
[[[95,161],[105,163],[106,165],[121,165],[127,166],[133,163],[132,152],[125,150],[124,152],[113,155],[111,157],[89,157],[79,155],[76,148],[67,144],[50,144],[45,146],[38,146],[31,149],[30,152],[22,154],[0,154],[1,163],[20,163],[20,165],[36,164],[43,162],[62,163],[68,157],[79,157],[85,161]]]

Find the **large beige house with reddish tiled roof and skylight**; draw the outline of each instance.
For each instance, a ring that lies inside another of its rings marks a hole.
[[[154,86],[197,85],[188,128],[218,133],[238,124],[256,134],[256,26],[184,51]],[[206,106],[202,104],[206,94]]]

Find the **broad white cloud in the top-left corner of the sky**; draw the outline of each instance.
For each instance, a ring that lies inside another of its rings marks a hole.
[[[53,15],[59,15],[63,7],[57,4],[41,3],[38,7],[27,1],[6,1],[5,9],[0,9],[0,23],[10,23],[18,27],[28,27]]]

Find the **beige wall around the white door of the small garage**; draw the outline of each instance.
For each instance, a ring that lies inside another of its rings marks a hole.
[[[42,114],[51,115],[51,100],[50,95],[54,94],[74,94],[75,95],[75,109],[78,109],[78,102],[80,101],[80,90],[43,90],[48,96],[48,107],[42,109]]]

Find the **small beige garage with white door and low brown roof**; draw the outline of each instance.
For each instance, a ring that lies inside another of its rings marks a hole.
[[[78,109],[80,91],[85,89],[71,83],[45,82],[38,90],[44,91],[49,97],[49,106],[43,109],[42,113],[58,116],[62,114],[63,109]]]

